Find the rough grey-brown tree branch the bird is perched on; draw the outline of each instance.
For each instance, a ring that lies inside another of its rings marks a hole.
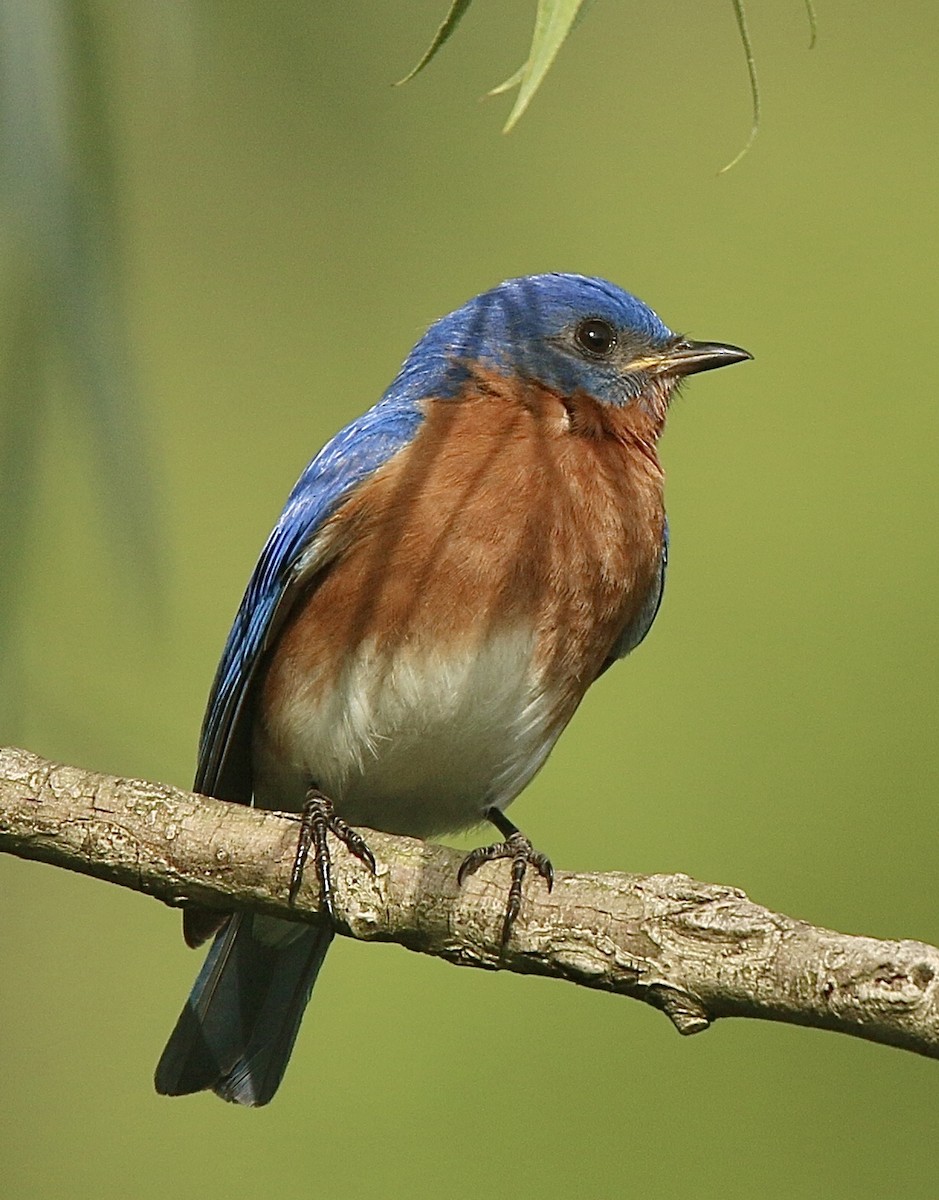
[[[295,920],[319,911],[316,872],[295,907],[297,818],[161,784],[0,750],[0,850],[157,896]],[[719,1016],[813,1025],[939,1057],[939,950],[793,920],[686,875],[557,874],[526,881],[500,948],[504,864],[456,886],[459,852],[369,833],[378,874],[334,856],[340,932],[461,966],[555,976],[665,1012],[681,1033]]]

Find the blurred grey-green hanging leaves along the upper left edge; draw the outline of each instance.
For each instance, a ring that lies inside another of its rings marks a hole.
[[[152,472],[125,330],[115,139],[103,60],[104,17],[88,0],[0,0],[0,227],[4,328],[0,553],[19,566],[38,503],[38,454],[53,361],[65,400],[92,434],[118,562],[156,613]],[[7,571],[0,642],[12,641]],[[6,667],[7,664],[5,662]]]

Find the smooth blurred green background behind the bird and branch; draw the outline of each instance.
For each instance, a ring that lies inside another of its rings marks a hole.
[[[675,406],[659,620],[513,817],[561,869],[939,938],[939,10],[818,8],[809,53],[796,0],[753,6],[764,127],[718,176],[749,127],[729,4],[596,0],[509,137],[510,101],[477,98],[530,4],[479,2],[399,90],[444,0],[88,6],[150,463],[112,454],[152,479],[159,550],[118,540],[52,370],[0,739],[186,786],[311,454],[467,296],[599,274],[755,362]],[[269,1109],[157,1098],[198,966],[178,916],[8,857],[0,889],[5,1195],[939,1194],[934,1062],[744,1021],[683,1040],[622,998],[345,940]]]

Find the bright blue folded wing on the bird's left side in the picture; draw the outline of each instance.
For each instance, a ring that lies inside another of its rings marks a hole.
[[[202,726],[195,791],[251,803],[251,688],[299,586],[329,560],[316,534],[357,487],[412,440],[421,420],[413,397],[388,394],[337,433],[300,475],[225,644]]]

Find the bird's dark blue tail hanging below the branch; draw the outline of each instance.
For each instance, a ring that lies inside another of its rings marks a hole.
[[[216,935],[163,1050],[157,1092],[211,1088],[235,1104],[267,1104],[331,941],[329,920],[301,925],[235,913]]]

